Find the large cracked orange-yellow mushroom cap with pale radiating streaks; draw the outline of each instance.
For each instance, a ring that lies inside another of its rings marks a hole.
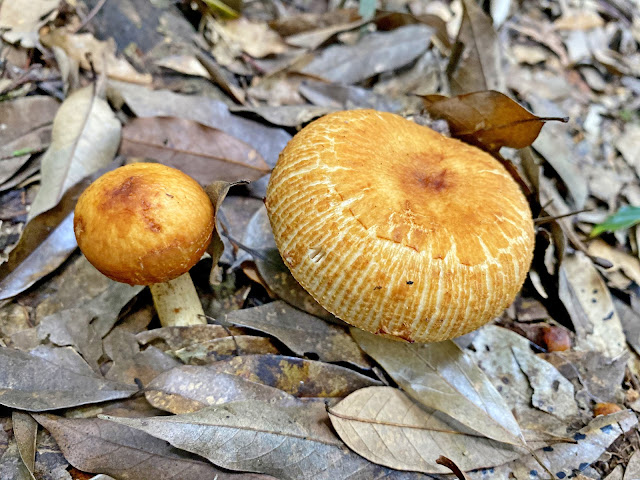
[[[265,200],[276,245],[325,309],[416,342],[470,332],[526,278],[529,205],[491,155],[374,110],[326,115],[282,151]]]

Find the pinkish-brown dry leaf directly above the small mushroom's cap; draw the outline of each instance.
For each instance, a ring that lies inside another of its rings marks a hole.
[[[250,145],[221,130],[176,117],[136,118],[122,130],[120,154],[178,168],[202,185],[257,180],[269,165]]]

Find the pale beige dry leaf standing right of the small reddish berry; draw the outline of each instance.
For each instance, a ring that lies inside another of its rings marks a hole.
[[[565,255],[558,294],[576,331],[576,348],[616,358],[626,340],[611,293],[593,263],[582,252]]]

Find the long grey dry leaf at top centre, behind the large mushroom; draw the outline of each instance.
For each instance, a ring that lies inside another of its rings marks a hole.
[[[426,25],[407,25],[365,35],[355,45],[326,48],[301,73],[329,82],[356,83],[415,60],[429,46],[432,33]]]

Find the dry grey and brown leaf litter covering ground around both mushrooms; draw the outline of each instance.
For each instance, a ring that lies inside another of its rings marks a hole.
[[[139,0],[0,6],[1,477],[635,475],[640,17],[625,2],[361,3],[206,2],[188,20]],[[297,130],[349,108],[480,145],[529,194],[538,251],[499,326],[459,346],[352,337],[286,270],[268,172]],[[209,325],[156,328],[146,289],[75,253],[78,195],[140,159],[210,187],[217,240],[192,271]],[[622,411],[594,418],[602,404]],[[48,410],[69,418],[36,415],[38,430],[24,413]]]

